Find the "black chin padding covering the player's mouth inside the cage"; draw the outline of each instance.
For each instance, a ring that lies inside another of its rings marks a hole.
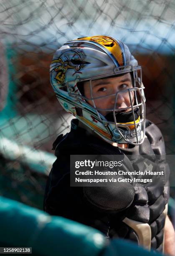
[[[140,116],[139,108],[136,108],[134,110],[134,116],[135,116],[135,120],[139,118]],[[118,112],[115,114],[115,117],[116,117],[117,123],[129,123],[134,121],[132,110],[125,111],[125,112]],[[105,115],[105,118],[107,119],[107,121],[114,122],[113,112],[110,112],[107,115]]]

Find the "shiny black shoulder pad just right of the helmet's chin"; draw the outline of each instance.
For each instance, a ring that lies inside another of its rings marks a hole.
[[[145,134],[151,143],[155,155],[165,155],[165,143],[160,129],[149,120],[146,120]]]

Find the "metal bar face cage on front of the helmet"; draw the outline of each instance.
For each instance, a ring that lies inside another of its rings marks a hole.
[[[126,90],[121,90],[118,91],[116,93],[112,93],[109,95],[105,95],[105,96],[99,96],[99,97],[94,97],[93,95],[93,87],[92,87],[92,83],[94,80],[96,79],[102,79],[102,78],[110,78],[110,77],[115,77],[118,74],[122,75],[122,74],[126,74],[126,73],[131,73],[132,74],[132,78],[133,78],[133,82],[132,82],[132,88],[128,88]],[[90,97],[86,97],[85,95],[81,95],[74,93],[74,91],[72,90],[72,84],[75,84],[76,82],[85,82],[85,81],[89,81],[89,87],[90,87]],[[95,77],[91,77],[91,79],[79,79],[79,77],[76,77],[76,79],[74,81],[69,81],[66,85],[67,87],[67,91],[68,91],[68,95],[71,96],[72,98],[74,98],[74,102],[76,104],[77,100],[78,102],[81,103],[85,103],[88,104],[90,106],[91,109],[93,109],[96,113],[96,116],[98,117],[98,119],[100,120],[101,123],[103,123],[105,126],[111,124],[114,125],[117,132],[119,133],[119,135],[121,136],[121,138],[123,138],[123,140],[125,141],[125,143],[130,143],[133,145],[139,145],[144,141],[145,138],[145,95],[144,95],[144,89],[145,87],[142,84],[142,69],[140,66],[137,67],[132,67],[132,65],[130,66],[123,66],[123,67],[118,67],[114,69],[113,73],[110,74],[104,74],[103,76],[95,76]],[[130,101],[130,105],[125,107],[125,108],[117,108],[117,99],[120,97],[120,95],[122,94],[127,94],[127,97],[129,98]],[[101,99],[101,100],[106,100],[108,97],[114,97],[114,105],[113,108],[98,108],[96,106],[96,100]],[[134,97],[134,100],[133,100]],[[92,104],[89,104],[88,102],[92,102]],[[81,104],[78,104],[79,107],[81,107]],[[134,115],[134,110],[139,109],[139,119],[136,120],[135,119],[135,115]],[[113,113],[113,118],[114,121],[109,121],[105,118],[104,115],[102,115],[100,112],[101,111],[106,111],[107,113]],[[116,119],[116,114],[118,112],[127,112],[127,111],[132,111],[132,116],[133,116],[133,121],[132,122],[126,122],[126,123],[119,123],[117,122]],[[133,128],[134,126],[134,128]],[[132,128],[132,131],[130,132],[130,128]],[[121,131],[121,129],[124,131]],[[129,140],[129,138],[127,138],[127,132],[131,134],[132,137],[136,137],[136,142],[132,142],[131,140]],[[115,136],[114,136],[114,141],[117,142],[115,140]]]

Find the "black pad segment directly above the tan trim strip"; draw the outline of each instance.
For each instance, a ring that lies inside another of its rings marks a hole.
[[[127,218],[148,223],[150,218],[150,209],[148,205],[134,205],[129,208]]]

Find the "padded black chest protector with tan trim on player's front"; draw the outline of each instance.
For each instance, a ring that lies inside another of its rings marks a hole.
[[[113,228],[109,232],[109,236],[128,238],[148,250],[153,249],[163,252],[170,170],[165,160],[165,144],[160,130],[148,120],[146,127],[144,143],[133,148],[122,149],[125,155],[140,155],[138,160],[129,160],[129,158],[128,162],[126,161],[126,166],[129,167],[128,171],[131,171],[132,167],[133,171],[140,170],[143,161],[146,160],[148,165],[152,164],[154,170],[163,171],[164,175],[152,177],[152,182],[155,183],[154,186],[147,187],[133,183],[134,200],[128,207],[122,223]],[[117,235],[115,230],[117,230]]]

